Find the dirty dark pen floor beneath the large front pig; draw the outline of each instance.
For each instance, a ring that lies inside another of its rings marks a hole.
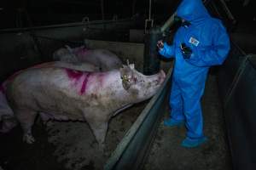
[[[21,128],[0,134],[0,167],[4,170],[102,169],[125,132],[135,122],[148,101],[133,105],[109,122],[106,148],[100,150],[86,122],[49,122],[40,119],[32,133],[35,144],[22,142]]]

